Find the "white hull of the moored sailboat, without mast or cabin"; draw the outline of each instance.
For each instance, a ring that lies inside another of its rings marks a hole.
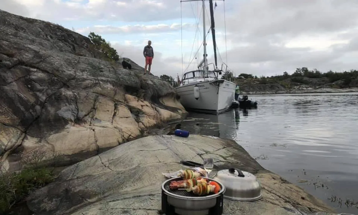
[[[195,86],[199,87],[198,99],[195,99],[197,95],[194,96]],[[180,102],[187,111],[219,114],[231,107],[235,87],[236,85],[233,82],[218,79],[185,84],[176,87],[175,91],[180,96]]]

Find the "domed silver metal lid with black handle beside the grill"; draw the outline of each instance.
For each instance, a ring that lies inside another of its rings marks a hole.
[[[224,198],[236,201],[255,201],[261,199],[261,184],[250,172],[237,168],[218,171],[213,178],[225,186]]]

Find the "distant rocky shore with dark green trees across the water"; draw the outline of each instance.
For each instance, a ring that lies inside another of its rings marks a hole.
[[[291,75],[284,72],[283,75],[257,77],[242,73],[236,82],[241,94],[358,92],[358,70],[322,73],[302,67]]]

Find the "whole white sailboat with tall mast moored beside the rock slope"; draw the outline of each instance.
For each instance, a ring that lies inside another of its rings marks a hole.
[[[217,66],[217,46],[215,40],[215,23],[213,0],[209,0],[210,17],[214,48],[214,63],[208,64],[207,44],[205,29],[205,0],[181,0],[185,1],[202,1],[203,14],[203,59],[197,66],[196,70],[185,72],[180,80],[179,86],[175,91],[180,96],[180,102],[187,111],[220,114],[228,110],[234,101],[235,83],[224,79],[219,79],[223,68],[227,70],[226,63],[222,63],[221,68]],[[209,66],[213,69],[209,70]]]

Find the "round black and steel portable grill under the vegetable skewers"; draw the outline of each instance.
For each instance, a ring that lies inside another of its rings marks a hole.
[[[166,215],[221,215],[223,213],[225,187],[221,183],[215,181],[221,186],[219,193],[198,196],[186,190],[170,190],[169,183],[177,180],[182,178],[171,178],[162,184],[161,210]]]

